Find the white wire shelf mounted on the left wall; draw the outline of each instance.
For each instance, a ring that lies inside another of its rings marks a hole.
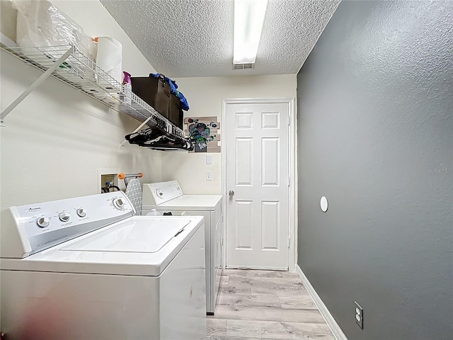
[[[159,126],[159,128],[173,135],[185,137],[183,130],[113,79],[110,74],[98,67],[93,60],[86,57],[77,47],[62,45],[0,48],[42,71],[55,66],[55,62],[68,50],[71,50],[69,57],[52,72],[53,77],[105,103],[113,110],[125,113],[140,122],[144,122],[151,117],[147,122],[150,127]]]

